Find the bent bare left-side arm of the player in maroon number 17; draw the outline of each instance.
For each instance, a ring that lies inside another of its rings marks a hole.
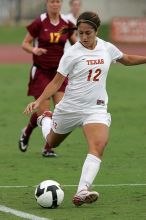
[[[33,47],[32,43],[33,43],[33,37],[28,33],[22,42],[22,48],[26,52],[35,54],[37,56],[40,56],[47,52],[46,49]]]

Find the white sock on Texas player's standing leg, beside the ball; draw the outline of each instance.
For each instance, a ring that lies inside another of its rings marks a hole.
[[[77,192],[80,192],[83,189],[87,190],[92,185],[99,171],[100,163],[101,160],[98,157],[92,154],[87,154],[86,160],[82,168]]]

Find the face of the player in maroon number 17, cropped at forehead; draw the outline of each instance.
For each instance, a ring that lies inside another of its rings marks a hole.
[[[61,11],[62,0],[47,0],[47,10],[48,13],[57,13],[59,14]]]

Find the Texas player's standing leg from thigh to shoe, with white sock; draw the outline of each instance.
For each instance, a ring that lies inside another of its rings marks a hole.
[[[104,121],[104,119],[102,120]],[[95,202],[99,197],[98,192],[90,191],[90,187],[100,169],[102,154],[108,142],[108,121],[107,115],[107,120],[105,121],[107,124],[89,123],[83,126],[83,131],[89,146],[89,152],[82,168],[77,193],[73,198],[73,203],[76,206]]]

